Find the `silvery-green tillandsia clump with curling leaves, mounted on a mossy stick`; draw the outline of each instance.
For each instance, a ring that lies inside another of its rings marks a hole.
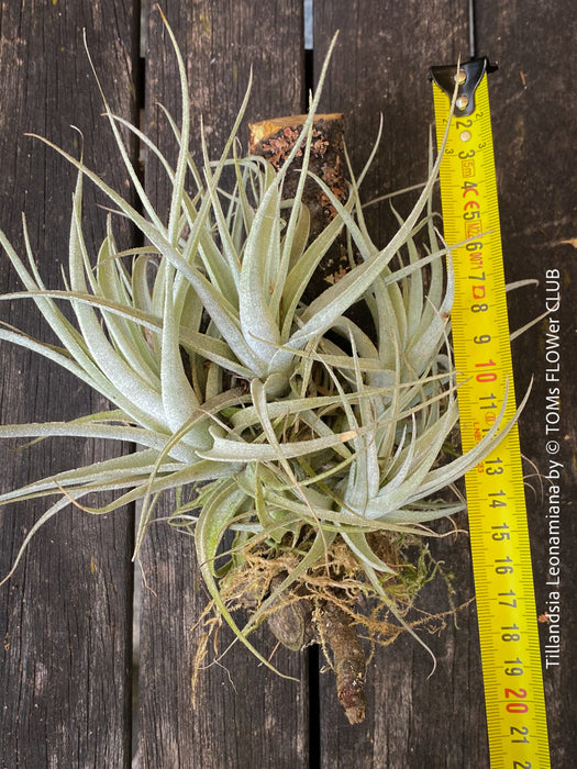
[[[235,137],[248,91],[219,160],[208,157],[200,131],[198,167],[189,152],[185,66],[167,29],[182,97],[181,124],[167,115],[178,145],[176,167],[112,114],[104,99],[140,210],[82,157],[46,142],[78,171],[66,288],[43,285],[25,221],[25,259],[0,233],[24,285],[3,299],[33,301],[59,346],[5,325],[0,338],[63,366],[111,403],[109,411],[70,422],[2,426],[0,436],[66,435],[140,447],[4,493],[1,504],[57,495],[26,535],[13,569],[35,532],[68,504],[110,513],[140,500],[137,555],[159,495],[174,490],[170,522],[195,537],[211,597],[206,626],[226,622],[271,668],[249,637],[263,622],[290,648],[320,643],[346,714],[358,722],[366,705],[358,632],[378,642],[404,628],[419,638],[406,616],[434,569],[426,524],[464,509],[454,483],[510,427],[501,410],[473,450],[443,458],[458,411],[447,339],[452,272],[450,259],[444,268],[447,249],[435,233],[431,203],[439,159],[397,234],[377,247],[359,197],[371,158],[358,178],[351,174],[344,201],[308,167],[325,63],[280,169],[262,157],[238,156]],[[122,127],[166,172],[167,221],[131,165]],[[297,154],[299,170],[291,166]],[[299,177],[287,200],[289,172]],[[234,178],[232,189],[223,186],[225,174]],[[310,178],[335,211],[312,242],[302,200]],[[109,215],[95,264],[82,234],[87,180],[142,233],[142,247],[119,250]],[[349,271],[306,302],[311,276],[343,233]],[[418,247],[423,238],[424,256]],[[345,314],[359,300],[373,334]],[[59,309],[63,301],[73,320]],[[90,495],[103,490],[115,492],[114,501],[91,508]],[[199,666],[203,650],[201,644]]]

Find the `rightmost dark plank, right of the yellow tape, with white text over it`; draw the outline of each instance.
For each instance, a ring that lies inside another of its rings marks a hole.
[[[506,275],[509,281],[540,281],[539,287],[511,296],[513,327],[551,311],[548,320],[514,342],[513,363],[520,393],[533,378],[520,436],[528,458],[526,499],[537,614],[551,614],[548,623],[540,623],[540,637],[553,767],[570,767],[577,755],[577,573],[573,562],[577,545],[577,267],[575,245],[563,243],[577,234],[577,109],[575,71],[568,65],[576,36],[577,22],[569,0],[478,3],[479,53],[499,63],[489,87]],[[558,453],[554,444],[548,444],[551,441],[558,443]],[[563,467],[552,464],[555,461]],[[556,611],[559,603],[561,611]]]

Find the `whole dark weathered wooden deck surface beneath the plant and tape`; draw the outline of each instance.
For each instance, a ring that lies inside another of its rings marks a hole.
[[[302,112],[307,78],[318,75],[329,41],[340,29],[322,109],[346,113],[347,144],[357,169],[376,136],[380,112],[385,121],[365,196],[424,178],[432,121],[428,69],[454,63],[459,54],[468,56],[467,0],[315,0],[314,47],[307,56],[302,0],[164,0],[163,10],[186,56],[193,114],[202,114],[213,152],[232,125],[251,66],[251,122]],[[554,589],[548,583],[556,579],[548,570],[554,561],[546,481],[544,493],[535,478],[537,471],[548,472],[547,438],[558,439],[555,458],[563,462],[559,665],[544,670],[552,766],[557,769],[575,766],[577,755],[577,270],[575,243],[564,243],[577,236],[574,11],[570,0],[485,0],[476,2],[475,13],[477,53],[500,65],[490,91],[507,277],[540,281],[511,296],[513,327],[544,311],[547,270],[561,276],[562,302],[555,312],[562,361],[561,381],[555,382],[561,390],[558,433],[546,435],[552,386],[546,381],[547,324],[514,343],[518,392],[534,378],[520,428],[531,477],[528,501],[540,613]],[[0,226],[21,246],[20,214],[25,211],[41,272],[54,287],[60,285],[66,259],[74,172],[24,133],[42,134],[78,153],[79,136],[70,125],[78,126],[87,163],[118,188],[126,185],[101,118],[82,27],[116,113],[137,120],[143,110],[147,131],[162,144],[168,129],[157,101],[178,112],[175,62],[155,10],[132,0],[2,3]],[[244,141],[246,146],[246,134]],[[137,147],[132,151],[136,156]],[[147,166],[145,180],[149,193],[162,201],[156,172]],[[87,190],[87,207],[95,200],[88,197]],[[103,216],[96,218],[87,225],[95,242],[102,222]],[[390,234],[387,207],[373,210],[370,225],[380,239]],[[130,231],[124,237],[130,243]],[[0,260],[0,285],[2,293],[19,285],[5,258]],[[30,304],[3,303],[0,313],[35,336],[45,334]],[[0,406],[7,423],[69,419],[102,404],[64,371],[1,344]],[[67,441],[15,448],[0,445],[2,491],[65,469],[79,454],[89,461],[110,452]],[[40,503],[1,510],[0,576],[42,510]],[[461,523],[466,526],[466,519]],[[360,726],[347,724],[332,676],[319,671],[314,650],[276,653],[277,665],[298,678],[296,683],[257,667],[235,646],[221,666],[204,672],[200,703],[192,710],[190,678],[198,640],[192,626],[204,602],[192,544],[162,524],[152,528],[143,556],[146,587],[135,605],[133,532],[133,510],[103,520],[66,511],[40,532],[0,589],[0,768],[115,769],[131,766],[134,746],[138,766],[148,769],[488,767],[474,603],[459,613],[458,628],[450,623],[428,638],[437,658],[431,678],[429,656],[410,637],[376,650],[368,678],[369,713]],[[456,575],[456,602],[465,602],[474,593],[466,535],[432,547]],[[441,584],[433,587],[426,605],[446,605],[442,592]],[[132,667],[135,608],[138,677]],[[550,628],[542,623],[540,629],[545,649]],[[263,638],[262,648],[271,651],[273,645]]]

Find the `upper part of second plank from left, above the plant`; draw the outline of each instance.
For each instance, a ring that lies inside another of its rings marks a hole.
[[[247,152],[247,123],[299,113],[303,109],[302,9],[298,0],[267,5],[266,12],[248,1],[218,0],[163,3],[186,58],[192,120],[190,151],[202,159],[201,120],[211,158],[220,157],[253,73],[246,122],[240,132]],[[170,41],[159,13],[149,14],[146,53],[146,130],[153,141],[174,156],[170,130],[157,102],[180,116],[180,86]],[[147,158],[158,201],[167,205],[167,189],[154,158]]]

